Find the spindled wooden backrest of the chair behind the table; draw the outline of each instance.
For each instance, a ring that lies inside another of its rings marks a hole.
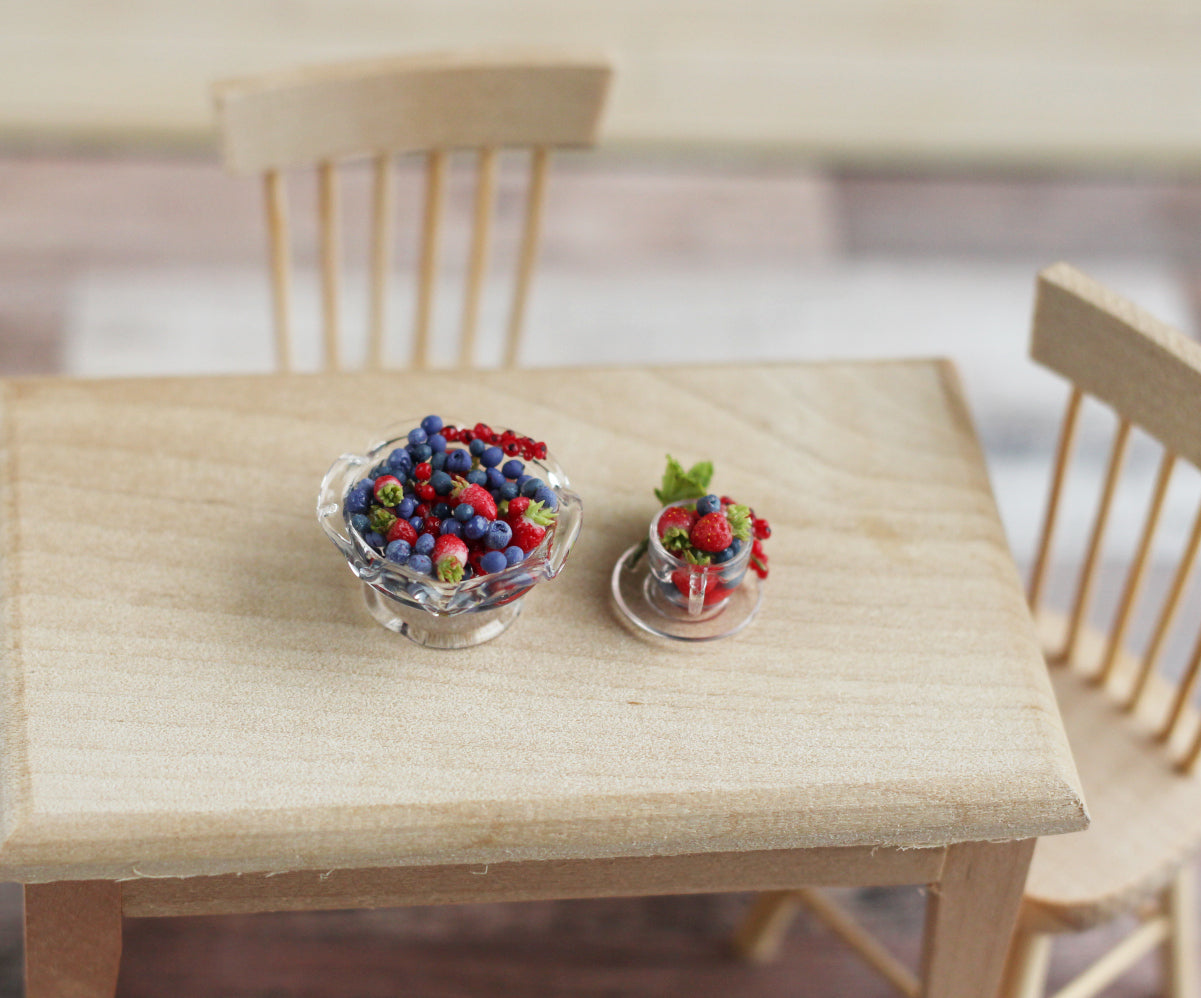
[[[516,361],[538,253],[549,153],[596,141],[611,70],[597,56],[444,54],[371,60],[220,83],[214,89],[226,166],[262,173],[271,259],[276,358],[292,365],[291,252],[283,172],[315,167],[324,365],[341,365],[341,161],[374,160],[368,364],[384,363],[386,301],[392,269],[393,160],[425,154],[412,365],[428,366],[437,283],[448,156],[477,153],[476,196],[464,293],[459,363],[474,353],[488,270],[497,151],[530,150],[524,228],[516,257],[504,364]]]

